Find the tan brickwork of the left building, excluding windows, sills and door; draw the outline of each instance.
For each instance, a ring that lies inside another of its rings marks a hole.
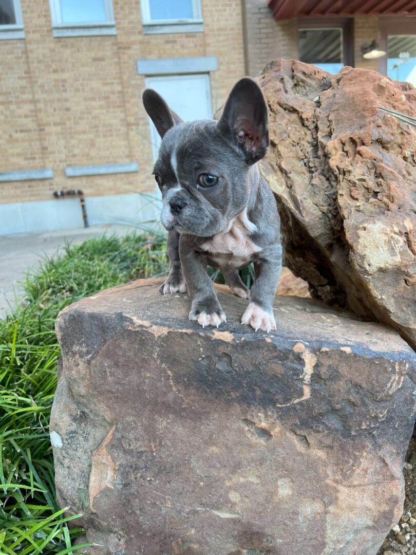
[[[115,37],[54,38],[49,1],[21,0],[26,39],[0,41],[0,171],[53,168],[54,179],[0,183],[0,203],[153,191],[144,76],[136,60],[216,56],[213,109],[245,74],[241,3],[202,0],[204,33],[145,35],[139,0],[114,0]],[[68,165],[139,162],[139,173],[65,177]]]

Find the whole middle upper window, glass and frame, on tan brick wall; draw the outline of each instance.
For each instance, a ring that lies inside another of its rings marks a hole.
[[[112,0],[50,0],[54,37],[116,34]]]

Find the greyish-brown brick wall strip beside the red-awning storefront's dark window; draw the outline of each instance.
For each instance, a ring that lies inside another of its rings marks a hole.
[[[277,58],[297,58],[296,18],[277,22],[265,0],[243,1],[248,74],[255,76]]]

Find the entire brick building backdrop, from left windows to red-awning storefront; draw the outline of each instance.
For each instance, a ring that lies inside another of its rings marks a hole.
[[[414,0],[0,0],[0,234],[157,218],[148,86],[185,120],[276,58],[416,85]],[[376,40],[387,55],[363,58]],[[138,194],[138,193],[143,194]]]

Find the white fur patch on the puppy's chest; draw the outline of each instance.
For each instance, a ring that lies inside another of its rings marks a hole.
[[[256,230],[256,225],[248,220],[247,212],[244,210],[230,221],[226,231],[221,231],[205,241],[201,249],[209,253],[210,258],[221,267],[241,268],[261,251],[250,239],[250,233]]]

